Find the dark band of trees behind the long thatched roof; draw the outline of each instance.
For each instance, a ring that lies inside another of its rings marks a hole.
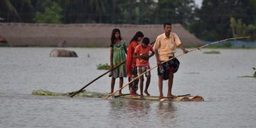
[[[255,0],[0,0],[0,22],[181,23],[208,41],[256,39]]]

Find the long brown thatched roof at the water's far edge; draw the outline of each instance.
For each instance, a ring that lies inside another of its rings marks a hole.
[[[142,31],[151,42],[164,32],[163,25],[0,23],[0,35],[9,46],[59,46],[65,42],[65,46],[106,47],[110,46],[113,28],[120,29],[127,44],[137,31]],[[178,34],[184,46],[203,44],[181,24],[174,24],[172,31]]]

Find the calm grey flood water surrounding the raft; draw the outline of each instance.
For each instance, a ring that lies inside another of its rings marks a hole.
[[[204,102],[31,95],[79,90],[105,73],[96,65],[109,63],[108,48],[65,49],[79,57],[50,58],[53,48],[0,48],[0,127],[256,127],[256,78],[239,78],[254,73],[255,49],[204,48],[178,58],[174,95],[200,95]],[[220,54],[203,53],[209,50]],[[155,57],[150,64],[156,65]],[[159,95],[157,80],[151,70],[151,95]],[[86,90],[110,92],[110,78],[105,75]]]

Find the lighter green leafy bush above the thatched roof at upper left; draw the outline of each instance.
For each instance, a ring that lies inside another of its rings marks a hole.
[[[36,23],[62,23],[63,9],[55,2],[52,2],[49,7],[46,6],[45,12],[36,12],[33,21]]]

